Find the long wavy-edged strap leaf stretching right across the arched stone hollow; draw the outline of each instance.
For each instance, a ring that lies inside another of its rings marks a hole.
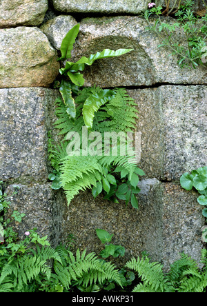
[[[83,71],[85,68],[85,65],[92,65],[95,61],[98,59],[106,59],[108,57],[119,57],[120,55],[126,54],[133,49],[118,49],[117,51],[110,50],[110,49],[104,49],[102,52],[97,52],[96,54],[90,54],[90,57],[81,57],[79,61],[76,63],[72,63],[68,61],[66,63],[65,68],[60,69],[60,73],[64,74],[67,71],[70,72],[78,72],[78,71]]]

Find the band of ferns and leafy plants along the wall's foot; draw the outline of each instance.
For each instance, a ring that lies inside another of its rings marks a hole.
[[[6,210],[9,204],[6,199],[4,203]],[[148,256],[132,258],[121,269],[106,261],[125,252],[110,243],[113,234],[106,230],[96,230],[105,245],[99,256],[86,249],[74,253],[64,245],[51,247],[47,236],[41,238],[36,229],[19,241],[9,222],[5,232],[10,236],[0,244],[0,292],[205,292],[207,287],[206,249],[201,251],[203,269],[182,253],[164,274],[163,265],[150,262]],[[128,289],[132,285],[134,289]]]

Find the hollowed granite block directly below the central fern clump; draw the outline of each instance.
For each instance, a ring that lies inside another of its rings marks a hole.
[[[115,261],[118,265],[123,266],[144,251],[152,261],[164,263],[164,269],[183,251],[199,263],[201,227],[205,221],[197,194],[157,179],[144,179],[139,187],[139,210],[124,203],[108,202],[101,196],[95,201],[91,192],[79,194],[63,216],[63,240],[73,234],[74,249],[87,248],[88,252],[99,254],[103,245],[95,229],[101,228],[114,234],[112,243],[126,248],[125,256]]]

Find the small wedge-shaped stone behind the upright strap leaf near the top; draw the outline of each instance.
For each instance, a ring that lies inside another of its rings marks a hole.
[[[72,16],[60,15],[44,23],[40,29],[47,35],[52,46],[59,50],[63,38],[76,24],[77,21]]]

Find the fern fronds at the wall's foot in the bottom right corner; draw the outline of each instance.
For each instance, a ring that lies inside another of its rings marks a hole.
[[[205,263],[206,253],[203,251],[201,257]],[[132,292],[205,292],[207,287],[206,266],[200,271],[197,263],[184,253],[170,266],[167,274],[160,263],[150,263],[147,257],[132,258],[126,267],[141,278],[141,283]]]

